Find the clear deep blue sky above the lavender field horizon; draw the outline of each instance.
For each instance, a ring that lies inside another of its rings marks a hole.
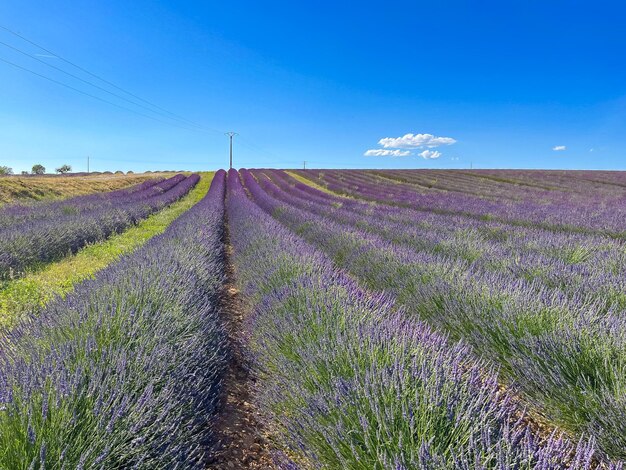
[[[572,0],[2,2],[0,25],[207,131],[0,62],[0,165],[214,169],[234,130],[238,167],[626,169],[625,14]],[[1,44],[0,59],[132,106]]]

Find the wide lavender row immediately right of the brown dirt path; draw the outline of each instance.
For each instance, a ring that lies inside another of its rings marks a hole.
[[[249,172],[241,177],[256,204],[231,170],[226,208],[238,279],[254,305],[257,397],[298,463],[591,468],[592,444],[533,432],[467,346],[407,317],[388,295],[356,285],[269,215],[282,220],[289,207]]]

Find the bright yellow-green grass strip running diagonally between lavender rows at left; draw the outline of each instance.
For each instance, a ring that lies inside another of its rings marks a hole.
[[[201,173],[200,181],[189,194],[125,232],[3,284],[0,287],[0,326],[10,326],[21,315],[41,309],[54,297],[65,296],[75,284],[92,278],[120,256],[163,233],[169,224],[206,195],[213,175],[214,172]]]

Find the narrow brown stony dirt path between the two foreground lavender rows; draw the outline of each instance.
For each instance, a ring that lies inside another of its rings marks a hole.
[[[274,469],[269,441],[264,435],[262,420],[252,403],[254,378],[250,373],[243,342],[247,311],[235,283],[231,262],[232,246],[225,219],[226,285],[222,294],[222,312],[228,332],[231,358],[224,377],[221,412],[215,422],[215,448],[209,454],[208,468]]]

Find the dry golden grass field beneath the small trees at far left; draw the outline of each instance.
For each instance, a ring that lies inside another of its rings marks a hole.
[[[113,191],[141,183],[160,173],[98,174],[85,176],[2,176],[0,204],[60,199],[100,191]]]

